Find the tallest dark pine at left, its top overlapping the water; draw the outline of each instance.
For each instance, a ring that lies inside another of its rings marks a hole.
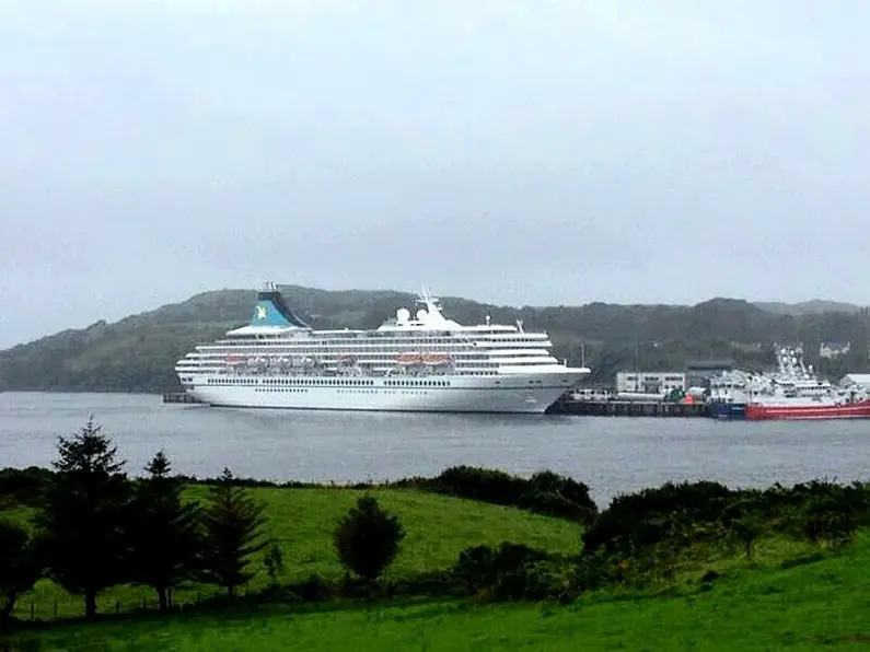
[[[59,438],[57,470],[36,524],[45,531],[50,575],[84,596],[96,616],[100,592],[126,581],[125,517],[130,484],[117,450],[93,417],[73,436]]]

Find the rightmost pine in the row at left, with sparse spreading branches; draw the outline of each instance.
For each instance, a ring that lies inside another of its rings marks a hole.
[[[263,536],[263,511],[264,505],[251,499],[244,488],[234,486],[232,473],[224,468],[202,512],[202,579],[224,586],[230,597],[254,577],[250,570],[252,555],[269,544]]]

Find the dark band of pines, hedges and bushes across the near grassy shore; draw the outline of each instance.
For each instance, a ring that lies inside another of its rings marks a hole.
[[[767,489],[668,482],[617,496],[599,511],[585,485],[552,471],[523,479],[463,466],[437,478],[361,486],[416,488],[549,513],[578,525],[578,552],[553,555],[504,540],[472,546],[449,568],[382,582],[384,569],[401,554],[405,529],[401,515],[384,512],[364,496],[336,524],[334,546],[348,570],[345,579],[312,575],[281,585],[281,549],[266,536],[264,505],[248,493],[251,487],[280,485],[234,478],[224,470],[206,482],[205,503],[185,501],[182,489],[188,480],[169,475],[164,455],[154,456],[147,477],[130,480],[92,421],[78,435],[61,438],[58,451],[54,471],[0,474],[0,496],[11,504],[37,508],[35,531],[11,521],[0,525],[5,618],[18,596],[40,577],[83,596],[88,617],[96,613],[96,595],[121,583],[153,587],[162,610],[172,607],[171,591],[189,581],[221,586],[224,599],[237,601],[239,587],[256,572],[252,558],[258,554],[271,582],[245,599],[427,595],[569,602],[603,587],[670,584],[685,570],[706,568],[700,578],[706,585],[718,578],[709,570],[712,562],[739,555],[753,563],[757,545],[770,537],[815,548],[784,563],[813,561],[870,525],[870,485],[862,482],[813,480]],[[300,485],[282,486],[292,490]]]

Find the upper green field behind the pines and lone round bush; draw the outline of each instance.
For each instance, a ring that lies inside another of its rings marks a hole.
[[[201,499],[207,491],[204,486],[195,486],[189,494]],[[573,554],[580,549],[580,528],[567,521],[411,489],[251,489],[254,498],[266,503],[268,535],[283,551],[285,574],[280,581],[302,581],[312,573],[326,579],[344,575],[333,546],[333,532],[338,519],[366,493],[374,496],[383,509],[396,514],[406,532],[402,551],[386,578],[442,569],[469,546],[497,545],[506,539],[556,554]],[[4,514],[22,519],[24,513],[16,509]],[[255,568],[259,572],[251,582],[251,590],[268,582],[262,558],[255,560]],[[217,591],[211,585],[193,586],[176,592],[174,602],[192,603],[197,599],[197,592],[205,598]],[[98,597],[97,609],[101,613],[127,612],[142,606],[143,599],[153,606],[153,591],[144,586],[116,586]],[[55,602],[60,618],[83,613],[81,597],[43,580],[19,599],[15,615],[27,619],[33,606],[36,619],[50,620],[55,617]]]

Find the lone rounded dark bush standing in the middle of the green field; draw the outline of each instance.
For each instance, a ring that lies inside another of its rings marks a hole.
[[[374,498],[363,497],[338,522],[335,547],[346,568],[373,581],[396,558],[404,537],[398,519],[381,510]]]

